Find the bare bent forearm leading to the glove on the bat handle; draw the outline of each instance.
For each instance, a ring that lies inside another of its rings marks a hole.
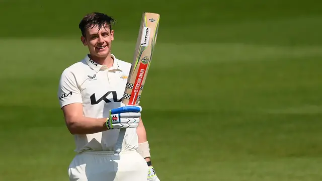
[[[68,121],[68,130],[71,134],[93,134],[108,130],[106,118],[75,117]]]

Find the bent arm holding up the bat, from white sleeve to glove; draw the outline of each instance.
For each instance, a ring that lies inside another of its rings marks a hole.
[[[83,115],[82,93],[75,75],[64,70],[59,80],[58,98],[66,126],[71,134],[93,134],[111,129],[136,128],[140,121],[141,107],[110,110],[108,118],[89,118]]]

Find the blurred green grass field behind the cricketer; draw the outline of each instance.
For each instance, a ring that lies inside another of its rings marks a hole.
[[[78,23],[113,16],[132,62],[142,12],[160,14],[141,104],[160,180],[322,180],[321,1],[0,0],[0,180],[68,180],[57,99],[87,53]]]

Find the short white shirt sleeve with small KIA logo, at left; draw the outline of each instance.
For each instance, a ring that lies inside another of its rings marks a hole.
[[[61,74],[57,96],[60,108],[72,103],[83,103],[82,94],[77,86],[76,78],[68,69],[65,69]]]

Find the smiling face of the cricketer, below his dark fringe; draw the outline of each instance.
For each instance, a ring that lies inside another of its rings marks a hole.
[[[114,40],[114,31],[110,30],[105,24],[91,26],[86,29],[85,36],[81,37],[85,46],[88,47],[92,57],[105,58],[111,52],[112,41]]]

